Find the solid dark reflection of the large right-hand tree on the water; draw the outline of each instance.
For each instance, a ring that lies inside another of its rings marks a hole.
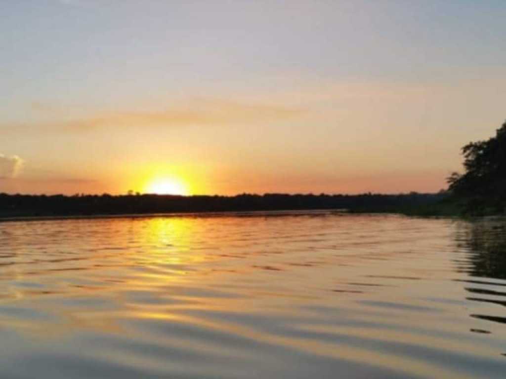
[[[468,224],[459,247],[469,249],[472,276],[506,279],[506,218],[484,218]]]

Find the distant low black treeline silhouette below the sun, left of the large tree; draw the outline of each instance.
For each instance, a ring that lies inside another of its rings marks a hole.
[[[8,195],[0,194],[0,217],[124,215],[179,212],[347,209],[396,212],[435,205],[445,194],[237,196],[175,195]]]

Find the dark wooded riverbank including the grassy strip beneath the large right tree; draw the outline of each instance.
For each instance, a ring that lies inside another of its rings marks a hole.
[[[391,213],[419,217],[504,215],[474,207],[446,194],[238,195],[226,196],[26,196],[0,194],[0,221],[67,218],[156,217],[178,215]]]

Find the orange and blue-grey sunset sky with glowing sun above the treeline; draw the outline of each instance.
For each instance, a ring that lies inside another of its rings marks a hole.
[[[436,192],[506,2],[0,0],[0,192]]]

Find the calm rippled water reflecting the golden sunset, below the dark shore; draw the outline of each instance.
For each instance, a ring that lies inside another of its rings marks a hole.
[[[0,377],[506,375],[506,221],[0,223]]]

